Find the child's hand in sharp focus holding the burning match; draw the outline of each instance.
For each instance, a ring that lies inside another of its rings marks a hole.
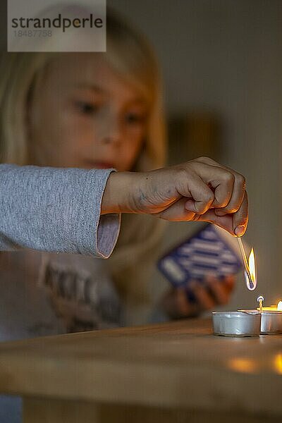
[[[156,171],[111,173],[102,214],[112,212],[207,221],[232,235],[243,235],[247,228],[245,178],[207,157]]]

